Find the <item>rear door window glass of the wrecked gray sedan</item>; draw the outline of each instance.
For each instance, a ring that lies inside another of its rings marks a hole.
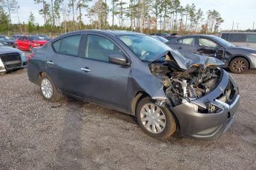
[[[53,49],[61,54],[77,56],[81,37],[82,35],[71,35],[62,38],[53,43]]]

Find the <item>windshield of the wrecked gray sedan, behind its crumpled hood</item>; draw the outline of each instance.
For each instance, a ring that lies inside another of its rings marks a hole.
[[[148,35],[119,35],[119,39],[142,61],[151,60],[151,58],[155,58],[163,52],[171,50],[163,42]]]

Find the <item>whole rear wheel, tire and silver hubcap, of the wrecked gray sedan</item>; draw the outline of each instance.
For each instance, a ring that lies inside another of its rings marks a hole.
[[[42,74],[42,77],[39,77],[39,86],[45,100],[59,101],[62,98],[62,94],[58,91],[53,79],[49,75]]]

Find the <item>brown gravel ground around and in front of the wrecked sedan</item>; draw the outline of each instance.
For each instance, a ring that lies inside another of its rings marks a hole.
[[[256,169],[255,72],[234,75],[237,118],[211,141],[154,140],[120,112],[72,98],[48,103],[26,69],[0,79],[0,169]]]

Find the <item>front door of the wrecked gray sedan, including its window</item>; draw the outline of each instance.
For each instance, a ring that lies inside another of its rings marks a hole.
[[[110,38],[87,35],[79,89],[82,97],[127,109],[126,95],[131,67],[110,63],[109,55],[125,56]]]

